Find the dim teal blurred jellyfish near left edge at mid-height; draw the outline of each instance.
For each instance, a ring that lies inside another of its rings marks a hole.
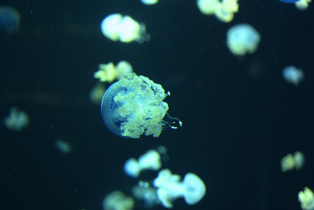
[[[26,112],[24,111],[18,111],[19,109],[16,107],[13,107],[10,109],[9,116],[6,117],[3,121],[4,125],[13,131],[21,131],[24,128],[26,128],[29,123],[30,119]]]

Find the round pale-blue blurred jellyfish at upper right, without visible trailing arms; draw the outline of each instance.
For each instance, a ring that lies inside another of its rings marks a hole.
[[[227,47],[235,56],[244,56],[246,53],[253,53],[261,41],[261,36],[249,24],[237,24],[227,31]]]

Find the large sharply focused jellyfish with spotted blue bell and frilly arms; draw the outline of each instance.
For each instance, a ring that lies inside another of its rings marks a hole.
[[[100,111],[102,119],[112,133],[126,138],[139,138],[143,133],[158,137],[161,130],[176,129],[174,122],[163,120],[171,117],[168,104],[163,102],[165,93],[161,85],[144,76],[129,73],[113,83],[104,93]]]

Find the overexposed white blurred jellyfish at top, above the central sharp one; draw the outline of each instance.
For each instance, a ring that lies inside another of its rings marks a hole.
[[[150,39],[150,35],[146,33],[145,24],[136,22],[128,15],[108,15],[102,20],[100,30],[104,36],[112,41],[143,43],[143,41]]]

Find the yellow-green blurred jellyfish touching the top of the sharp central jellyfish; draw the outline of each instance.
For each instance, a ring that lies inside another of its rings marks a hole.
[[[99,70],[94,73],[94,78],[101,82],[112,83],[114,80],[120,80],[122,75],[132,73],[133,68],[127,61],[120,61],[116,66],[112,62],[108,64],[99,64]]]

